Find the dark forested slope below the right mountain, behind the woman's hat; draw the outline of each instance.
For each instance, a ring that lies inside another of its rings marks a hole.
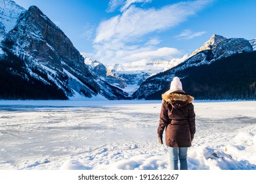
[[[219,59],[209,65],[178,71],[186,93],[195,99],[256,99],[256,52],[243,52]],[[164,81],[162,81],[164,82]],[[146,99],[161,99],[165,88]]]

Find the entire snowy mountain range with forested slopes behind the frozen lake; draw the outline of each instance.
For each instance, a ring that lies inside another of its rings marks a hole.
[[[256,40],[213,35],[190,56],[106,67],[39,8],[0,1],[0,99],[161,99],[174,76],[196,99],[256,99]]]

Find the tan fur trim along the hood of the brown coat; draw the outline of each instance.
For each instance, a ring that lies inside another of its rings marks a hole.
[[[187,94],[179,94],[179,93],[163,93],[161,97],[163,100],[169,103],[174,103],[177,101],[182,101],[184,103],[192,103],[194,101],[194,97]]]

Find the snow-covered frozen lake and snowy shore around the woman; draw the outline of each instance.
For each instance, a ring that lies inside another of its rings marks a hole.
[[[194,103],[188,169],[256,170],[256,101]],[[161,101],[0,101],[1,170],[165,170]]]

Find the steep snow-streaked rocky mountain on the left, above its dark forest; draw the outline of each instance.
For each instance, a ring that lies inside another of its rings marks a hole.
[[[2,58],[10,64],[15,61],[13,56],[17,57],[16,60],[24,62],[16,71],[13,65],[3,67],[3,71],[11,71],[9,73],[15,76],[22,75],[28,82],[35,79],[47,86],[56,86],[68,98],[128,98],[127,93],[91,72],[70,39],[39,8],[32,6],[28,10],[23,10],[13,1],[1,3],[4,3],[5,7],[17,7],[5,10],[5,7],[1,6],[1,20],[9,22],[8,17],[12,17],[9,13],[14,14],[14,17],[21,13],[13,29],[3,37]]]

